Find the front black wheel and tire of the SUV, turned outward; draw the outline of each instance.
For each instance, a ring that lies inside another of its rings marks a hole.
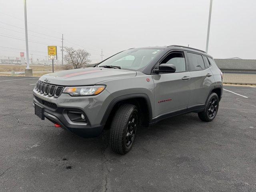
[[[135,105],[123,104],[118,108],[110,126],[110,146],[114,152],[126,154],[131,150],[140,126],[138,116]]]

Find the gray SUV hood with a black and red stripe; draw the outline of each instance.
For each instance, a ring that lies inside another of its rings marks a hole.
[[[106,80],[134,76],[136,76],[135,71],[103,67],[88,67],[49,73],[40,77],[39,80],[62,86],[82,86],[94,85]]]

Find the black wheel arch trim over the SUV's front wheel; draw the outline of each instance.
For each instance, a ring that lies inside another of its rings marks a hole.
[[[136,93],[136,94],[127,94],[127,95],[123,95],[123,96],[114,98],[108,105],[108,108],[107,108],[100,124],[106,124],[112,109],[118,102],[120,102],[122,100],[133,99],[133,98],[144,98],[146,100],[146,104],[148,106],[149,121],[151,121],[152,120],[152,107],[151,107],[151,103],[150,103],[150,99],[149,99],[148,95],[144,94],[144,93]]]

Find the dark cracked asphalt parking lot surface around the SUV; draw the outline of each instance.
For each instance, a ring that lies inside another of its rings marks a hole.
[[[84,139],[35,116],[37,80],[0,77],[0,191],[256,191],[256,88],[224,86],[212,122],[143,127],[121,156],[108,132]]]

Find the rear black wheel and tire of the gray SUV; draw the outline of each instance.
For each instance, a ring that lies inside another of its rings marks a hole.
[[[206,107],[204,108],[204,111],[198,113],[198,117],[202,121],[206,121],[206,122],[212,121],[218,112],[218,108],[219,108],[218,95],[216,93],[211,93],[206,102]]]

